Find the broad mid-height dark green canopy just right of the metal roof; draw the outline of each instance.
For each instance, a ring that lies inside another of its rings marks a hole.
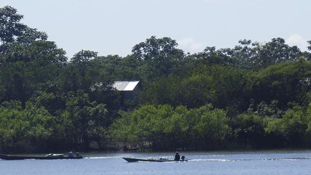
[[[256,78],[253,72],[235,70],[230,66],[201,66],[190,77],[163,76],[142,92],[143,102],[186,105],[190,108],[212,103],[218,108],[233,104],[245,110]],[[230,88],[228,88],[230,87]]]

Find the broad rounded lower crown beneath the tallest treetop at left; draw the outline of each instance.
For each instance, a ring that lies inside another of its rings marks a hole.
[[[58,90],[57,78],[66,64],[65,51],[54,42],[37,40],[27,46],[10,46],[0,64],[2,100],[25,103],[35,90]]]

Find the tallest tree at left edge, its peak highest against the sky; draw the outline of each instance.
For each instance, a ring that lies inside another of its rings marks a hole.
[[[0,102],[25,105],[35,90],[56,86],[67,58],[44,32],[21,23],[22,18],[13,7],[0,8]]]

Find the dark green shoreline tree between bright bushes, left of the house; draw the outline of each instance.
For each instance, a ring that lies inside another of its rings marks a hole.
[[[106,113],[105,105],[90,102],[83,90],[69,92],[66,110],[61,113],[69,144],[73,142],[75,149],[87,150],[90,140],[94,139],[101,146],[106,137],[105,127],[109,123]]]

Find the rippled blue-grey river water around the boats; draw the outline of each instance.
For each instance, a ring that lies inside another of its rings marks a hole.
[[[121,157],[172,153],[93,153],[76,160],[1,160],[0,175],[311,175],[311,151],[180,152],[188,162],[128,163]],[[172,155],[172,156],[171,156]]]

